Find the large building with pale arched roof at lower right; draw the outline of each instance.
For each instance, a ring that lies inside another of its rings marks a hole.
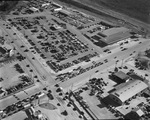
[[[119,105],[122,105],[146,88],[148,88],[148,85],[146,83],[140,80],[130,80],[126,83],[122,83],[116,86],[114,90],[109,94],[109,97]]]

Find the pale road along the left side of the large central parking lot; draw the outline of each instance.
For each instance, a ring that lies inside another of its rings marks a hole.
[[[5,24],[7,24],[5,22]],[[29,46],[26,45],[23,41],[22,41],[22,37],[19,36],[18,34],[13,35],[13,30],[12,29],[7,29],[5,25],[0,23],[0,26],[11,36],[12,41],[14,42],[14,46],[16,49],[18,49],[18,51],[25,57],[27,57],[28,61],[32,64],[33,68],[35,68],[35,71],[38,73],[38,75],[40,75],[40,77],[44,80],[44,84],[53,82],[52,78],[50,76],[50,73],[48,73],[45,68],[43,67],[43,65],[41,65],[41,63],[39,63],[39,61],[37,59],[32,59],[33,57],[36,57],[29,49]],[[17,31],[16,31],[17,32]],[[24,48],[21,48],[20,46],[24,45]],[[24,52],[25,49],[28,49],[28,52]],[[40,79],[40,80],[42,80]]]

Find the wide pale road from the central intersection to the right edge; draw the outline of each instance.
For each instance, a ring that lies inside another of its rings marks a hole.
[[[99,70],[99,71],[103,71],[104,69],[107,69],[109,66],[112,66],[113,64],[116,64],[116,60],[125,60],[127,59],[131,53],[133,53],[133,51],[141,51],[144,49],[146,49],[147,47],[150,46],[150,41],[149,40],[141,40],[143,41],[141,44],[135,44],[135,46],[129,47],[127,50],[125,51],[118,51],[116,53],[110,54],[104,58],[101,58],[100,60],[98,60],[97,62],[103,62],[104,59],[108,59],[107,63],[104,63],[102,65],[100,65],[99,67],[96,67],[90,71],[87,71],[81,75],[78,75],[75,78],[69,79],[65,82],[61,82],[60,86],[62,88],[64,88],[64,90],[68,90],[68,89],[76,89],[79,86],[81,86],[82,84],[84,84],[86,81],[88,81],[90,78],[92,78],[92,76],[94,76],[95,71]],[[117,56],[117,59],[114,59],[114,57]]]

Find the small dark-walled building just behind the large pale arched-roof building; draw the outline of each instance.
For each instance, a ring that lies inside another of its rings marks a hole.
[[[113,78],[118,81],[118,83],[126,82],[130,77],[122,71],[113,74]]]

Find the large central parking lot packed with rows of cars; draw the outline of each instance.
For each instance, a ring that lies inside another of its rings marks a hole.
[[[66,29],[65,23],[57,19],[43,15],[13,18],[9,22],[25,35],[33,53],[34,50],[39,53],[41,59],[55,72],[98,55],[91,45],[80,40],[72,30]]]

